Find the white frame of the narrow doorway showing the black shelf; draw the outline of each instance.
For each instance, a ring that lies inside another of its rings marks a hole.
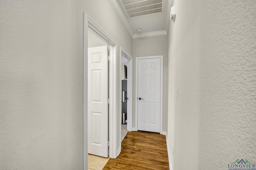
[[[127,71],[127,77],[130,77],[129,80],[128,80],[128,84],[127,84],[127,97],[129,98],[129,104],[130,105],[127,105],[127,130],[128,131],[132,131],[132,56],[127,52],[125,51],[122,47],[120,47],[120,54],[121,54],[121,57],[122,57],[122,54],[124,54],[124,56],[126,57],[127,59],[127,68],[128,68],[128,71]],[[121,72],[122,70],[121,69],[124,69],[124,68],[121,68],[122,66],[122,61],[120,60],[120,77],[121,77]],[[120,89],[122,89],[122,83],[120,81]],[[121,98],[121,94],[120,94],[120,98]],[[128,113],[129,111],[129,113]],[[120,105],[120,113],[122,112],[122,105]],[[121,134],[121,131],[120,131],[120,134]],[[120,135],[120,139],[121,139],[121,135]]]

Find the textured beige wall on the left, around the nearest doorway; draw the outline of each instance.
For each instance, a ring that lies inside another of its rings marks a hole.
[[[107,0],[0,1],[0,169],[82,169],[84,12],[132,52]]]

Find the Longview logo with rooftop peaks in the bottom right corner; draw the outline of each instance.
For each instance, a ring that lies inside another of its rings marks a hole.
[[[256,170],[256,164],[246,160],[237,159],[234,163],[228,164],[228,170]]]

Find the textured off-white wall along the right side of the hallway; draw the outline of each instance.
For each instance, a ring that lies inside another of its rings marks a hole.
[[[256,162],[256,3],[174,0],[168,140],[174,170]],[[176,99],[176,87],[179,97]]]

